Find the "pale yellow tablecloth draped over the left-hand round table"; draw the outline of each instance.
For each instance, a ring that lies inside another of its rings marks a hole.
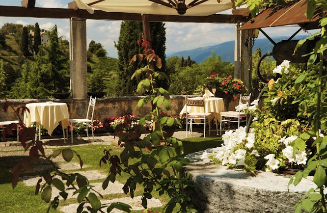
[[[24,123],[28,127],[36,122],[37,125],[42,125],[47,129],[51,135],[60,121],[64,129],[69,125],[68,107],[65,103],[30,103],[26,107],[29,113],[25,112]]]

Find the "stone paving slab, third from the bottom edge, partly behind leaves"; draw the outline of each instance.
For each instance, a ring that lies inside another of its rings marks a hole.
[[[74,173],[79,173],[79,174],[85,176],[89,181],[107,178],[106,175],[100,174],[96,170],[77,171]],[[27,186],[36,186],[37,181],[39,179],[40,179],[40,176],[23,176],[23,177],[19,178],[19,180],[23,181],[23,183],[26,184]],[[44,183],[45,183],[44,180],[42,180],[41,184],[44,184]]]

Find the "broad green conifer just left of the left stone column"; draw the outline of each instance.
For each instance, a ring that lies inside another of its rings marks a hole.
[[[69,87],[68,58],[58,44],[57,29],[50,31],[49,44],[39,46],[35,62],[25,63],[22,77],[12,88],[12,96],[16,98],[46,98],[52,92],[64,92]],[[41,52],[45,53],[41,55]],[[23,92],[22,92],[23,91]]]

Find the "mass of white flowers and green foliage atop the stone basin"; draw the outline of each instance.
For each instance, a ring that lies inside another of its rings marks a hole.
[[[214,148],[213,154],[204,153],[203,158],[222,165],[241,166],[252,173],[306,167],[313,155],[312,142],[317,139],[311,131],[313,114],[310,113],[316,99],[310,88],[316,80],[307,71],[291,67],[289,61],[278,65],[273,72],[279,78],[270,80],[264,88],[263,108],[258,107],[259,100],[254,100],[246,109],[253,117],[249,133],[244,127],[224,133],[223,145]],[[323,123],[322,127],[326,129]],[[324,134],[321,131],[319,137]]]

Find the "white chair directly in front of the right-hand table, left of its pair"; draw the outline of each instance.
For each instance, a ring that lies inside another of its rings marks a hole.
[[[206,112],[204,98],[202,98],[202,97],[195,97],[195,98],[186,97],[185,105],[186,105],[186,137],[188,136],[188,125],[190,125],[190,133],[192,135],[192,131],[193,131],[192,124],[193,124],[194,120],[200,120],[200,123],[197,123],[197,122],[195,122],[195,123],[204,126],[203,138],[205,138],[205,136],[206,136],[206,124],[209,124],[209,135],[210,135],[212,113]],[[203,107],[203,112],[189,112],[188,107],[190,107],[190,106]]]

